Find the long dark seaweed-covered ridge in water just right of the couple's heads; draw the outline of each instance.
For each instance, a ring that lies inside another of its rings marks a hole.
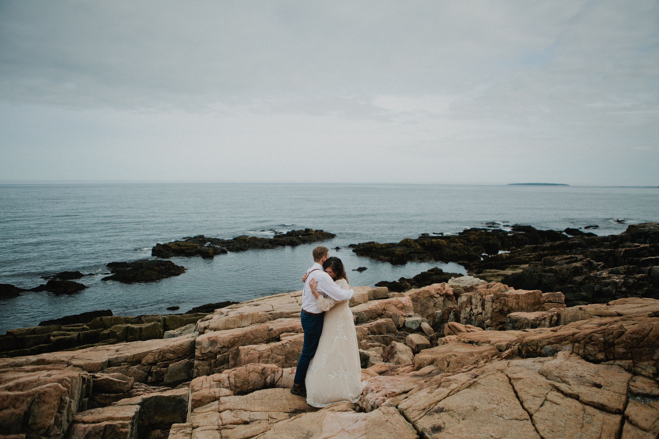
[[[364,242],[353,251],[395,265],[409,261],[442,261],[463,263],[465,267],[480,261],[481,255],[496,255],[525,245],[569,240],[556,230],[536,230],[532,226],[513,226],[511,232],[500,229],[470,228],[457,236],[436,236],[427,233],[416,239],[405,238],[398,243]]]

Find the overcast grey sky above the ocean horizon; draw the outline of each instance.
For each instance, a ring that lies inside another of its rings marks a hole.
[[[0,0],[0,180],[659,185],[658,1]]]

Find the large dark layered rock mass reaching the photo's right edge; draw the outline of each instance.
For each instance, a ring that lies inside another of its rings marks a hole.
[[[562,292],[570,306],[624,297],[659,299],[659,224],[632,224],[619,235],[526,245],[470,268],[488,280],[505,271],[501,282],[514,288]]]

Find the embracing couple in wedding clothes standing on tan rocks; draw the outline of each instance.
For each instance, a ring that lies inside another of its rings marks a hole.
[[[341,259],[327,247],[313,251],[314,265],[302,276],[304,347],[297,362],[294,395],[313,407],[350,401],[362,393],[362,369],[357,332],[348,301],[350,289]]]

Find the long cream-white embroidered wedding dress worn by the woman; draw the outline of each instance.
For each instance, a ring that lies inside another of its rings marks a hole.
[[[345,279],[336,284],[342,290],[350,289]],[[362,394],[362,367],[353,313],[347,300],[320,296],[316,301],[326,312],[318,349],[306,373],[306,402],[313,407],[357,402]]]

